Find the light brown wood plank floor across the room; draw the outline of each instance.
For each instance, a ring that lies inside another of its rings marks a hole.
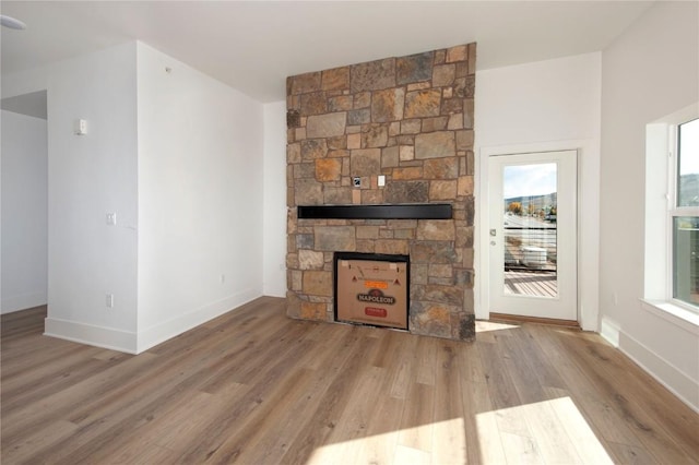
[[[139,356],[2,317],[2,464],[699,463],[699,418],[595,334],[473,344],[261,298]]]

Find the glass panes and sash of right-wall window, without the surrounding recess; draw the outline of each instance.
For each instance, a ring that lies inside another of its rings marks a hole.
[[[699,119],[670,130],[676,132],[670,156],[672,298],[699,310]]]

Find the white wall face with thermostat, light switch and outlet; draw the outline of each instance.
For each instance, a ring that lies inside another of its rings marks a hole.
[[[48,74],[46,334],[135,351],[135,44],[59,62]],[[78,118],[87,120],[86,135],[74,134]],[[107,226],[107,212],[117,226]]]

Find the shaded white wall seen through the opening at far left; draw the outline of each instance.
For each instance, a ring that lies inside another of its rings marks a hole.
[[[2,111],[1,313],[47,302],[48,146],[45,119]]]

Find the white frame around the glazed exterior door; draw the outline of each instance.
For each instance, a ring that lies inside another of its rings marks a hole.
[[[600,331],[600,146],[594,140],[568,140],[477,147],[475,157],[475,315],[490,318],[489,270],[489,157],[538,152],[578,152],[578,323],[585,331]]]

